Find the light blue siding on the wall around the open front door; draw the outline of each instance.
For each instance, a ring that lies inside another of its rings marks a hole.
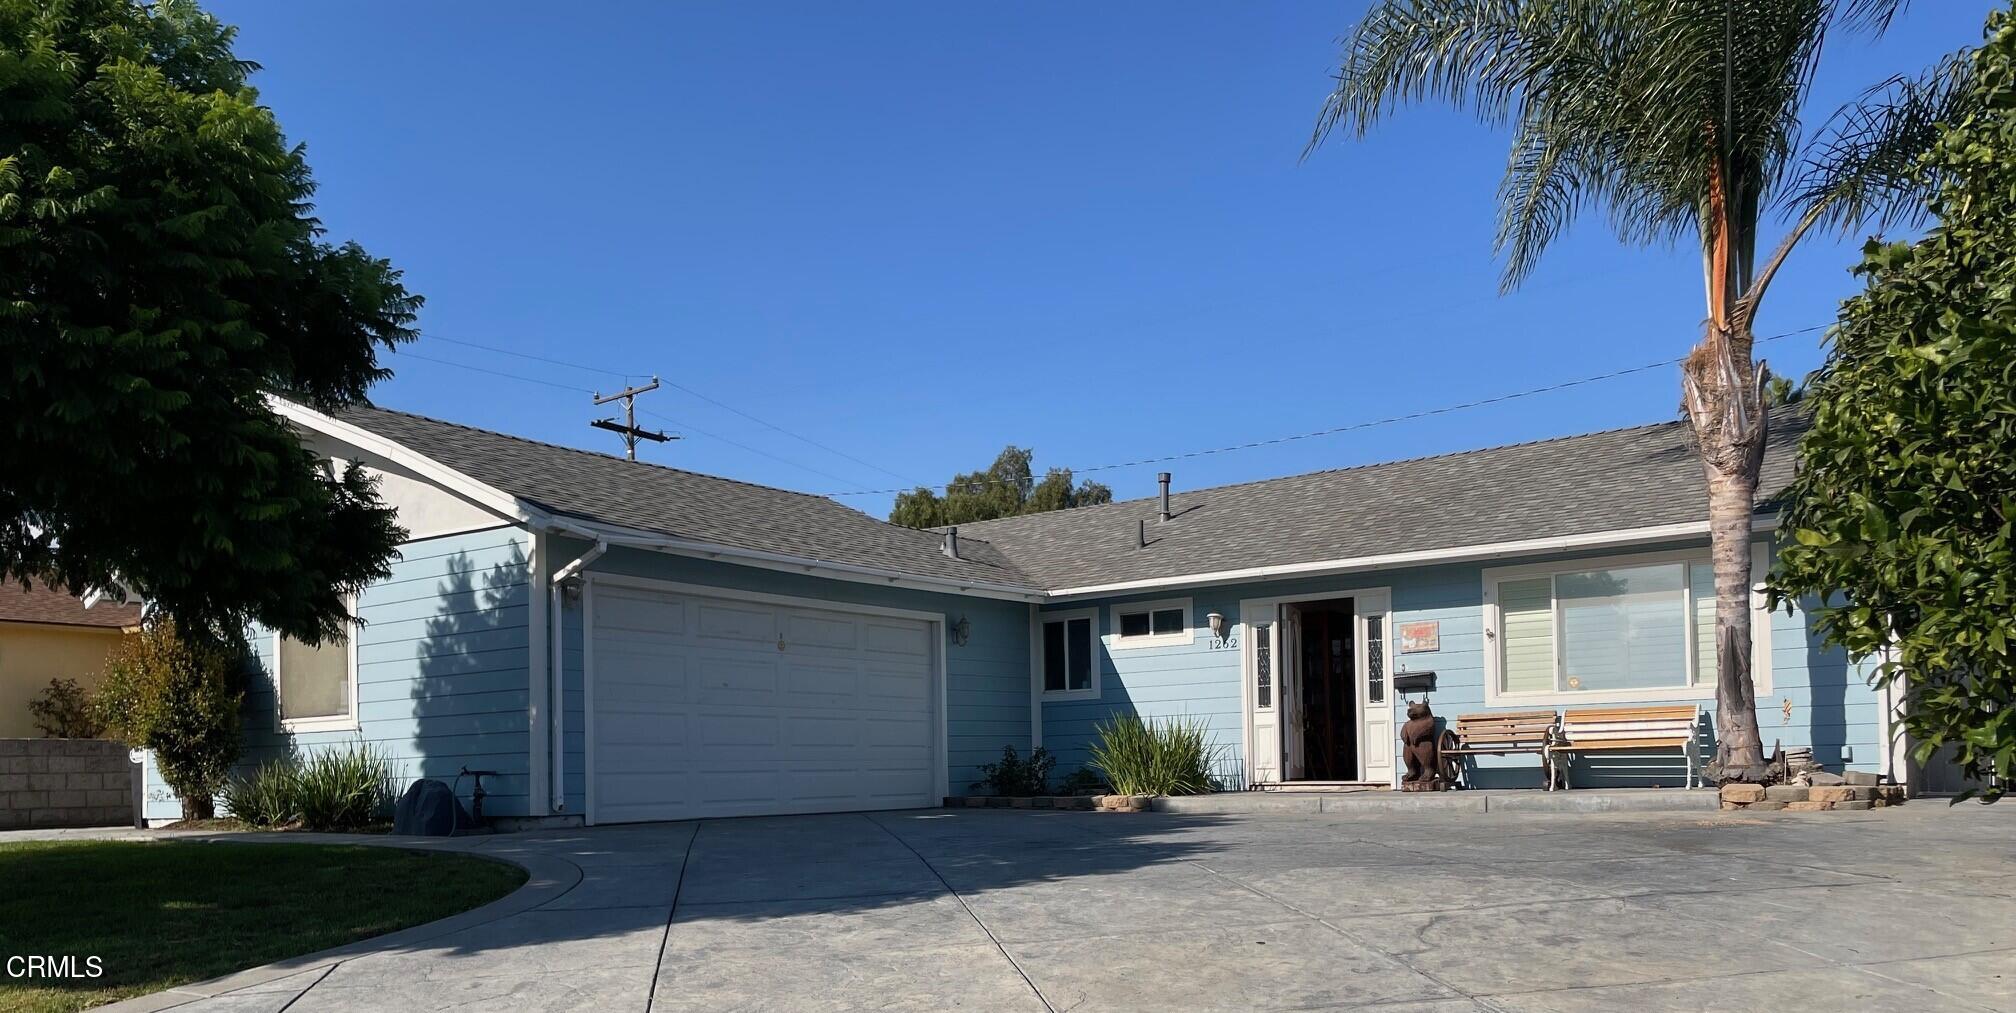
[[[1663,549],[1685,547],[1667,545]],[[1391,589],[1393,626],[1419,620],[1439,622],[1439,650],[1399,654],[1395,644],[1395,650],[1389,654],[1389,666],[1395,674],[1435,672],[1437,688],[1429,702],[1439,718],[1447,720],[1456,714],[1488,710],[1484,704],[1484,569],[1659,549],[1633,547],[1623,551],[1554,553],[1494,559],[1490,563],[1258,581],[1044,605],[1044,613],[1097,607],[1105,648],[1099,652],[1101,698],[1046,700],[1042,704],[1042,745],[1056,753],[1058,771],[1066,773],[1087,763],[1093,726],[1107,714],[1195,716],[1206,722],[1222,749],[1224,759],[1220,769],[1224,771],[1224,787],[1244,787],[1242,658],[1238,644],[1224,646],[1212,642],[1210,632],[1204,628],[1204,617],[1218,611],[1230,624],[1238,624],[1242,599],[1325,595],[1343,589]],[[1189,644],[1169,648],[1111,648],[1111,605],[1169,597],[1191,599],[1193,640]],[[1758,690],[1758,724],[1764,749],[1772,749],[1774,743],[1786,749],[1812,747],[1814,759],[1822,765],[1845,765],[1865,771],[1879,769],[1885,749],[1881,704],[1877,692],[1867,682],[1867,666],[1853,666],[1839,650],[1822,648],[1810,630],[1808,613],[1802,609],[1772,613],[1770,622],[1772,678],[1768,690],[1762,686]],[[1244,636],[1244,630],[1236,630]],[[1397,728],[1405,720],[1405,704],[1397,696],[1393,696],[1391,704]],[[1714,700],[1704,698],[1699,704],[1712,722]],[[1502,710],[1516,708],[1506,706]],[[1710,737],[1712,733],[1704,733],[1704,745],[1712,743]],[[1401,765],[1395,763],[1395,767],[1399,769]],[[1480,757],[1476,759],[1476,783],[1484,787],[1540,785],[1538,759],[1530,755]],[[1647,755],[1607,753],[1577,759],[1570,777],[1574,785],[1591,787],[1677,785],[1683,779],[1683,765],[1677,751],[1653,751]]]

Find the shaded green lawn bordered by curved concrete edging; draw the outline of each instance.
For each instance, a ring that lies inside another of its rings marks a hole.
[[[496,900],[524,870],[327,843],[0,846],[0,961],[99,956],[103,977],[0,967],[0,1011],[65,1013],[431,922]]]

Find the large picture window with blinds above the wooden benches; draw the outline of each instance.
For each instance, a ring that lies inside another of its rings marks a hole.
[[[1714,692],[1716,573],[1706,551],[1490,569],[1484,585],[1494,698]],[[1752,626],[1762,640],[1770,615],[1756,613]],[[1764,650],[1754,650],[1764,670]]]

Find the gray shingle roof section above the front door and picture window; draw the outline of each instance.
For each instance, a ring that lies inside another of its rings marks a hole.
[[[1758,484],[1792,480],[1806,418],[1778,412]],[[1046,589],[1228,569],[1589,535],[1708,519],[1683,422],[1367,464],[1153,498],[962,525]],[[1137,547],[1137,521],[1149,545]]]

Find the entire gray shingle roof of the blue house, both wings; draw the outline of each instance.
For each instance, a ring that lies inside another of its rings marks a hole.
[[[1708,519],[1702,464],[1681,422],[1179,490],[960,527],[887,525],[825,496],[716,478],[476,430],[385,408],[341,420],[395,440],[548,513],[712,545],[915,577],[1060,589],[1228,569],[1591,535]],[[1760,509],[1790,480],[1800,412],[1778,412]],[[1135,545],[1137,521],[1149,545]]]

